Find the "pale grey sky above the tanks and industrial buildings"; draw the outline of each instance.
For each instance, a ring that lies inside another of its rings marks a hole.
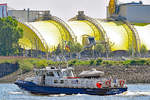
[[[119,0],[119,2],[132,2],[139,0]],[[142,0],[150,4],[150,0]],[[0,0],[14,9],[50,10],[52,15],[62,19],[74,17],[78,11],[84,11],[93,18],[106,18],[106,6],[109,0]]]

